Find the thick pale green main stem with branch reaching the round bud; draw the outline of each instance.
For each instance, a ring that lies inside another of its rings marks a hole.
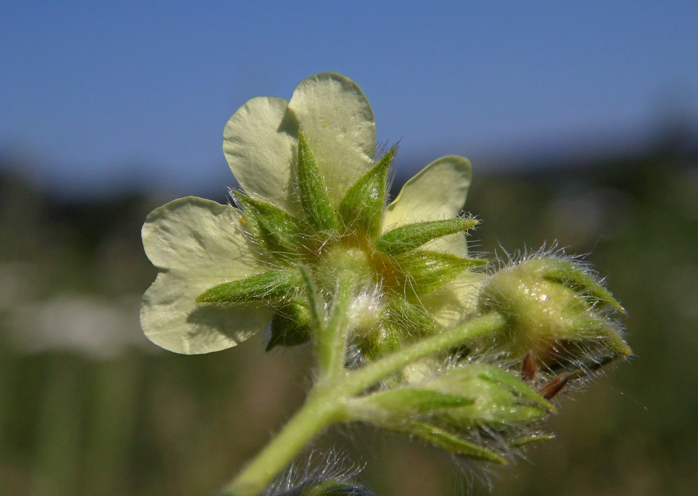
[[[344,409],[349,398],[413,361],[443,352],[470,339],[496,333],[504,324],[502,315],[491,313],[419,340],[358,370],[346,371],[342,363],[343,375],[336,375],[334,379],[320,379],[311,389],[305,405],[257,458],[224,488],[221,496],[258,495],[321,430],[334,422],[350,421]],[[346,347],[346,336],[342,343]],[[342,350],[342,357],[343,353]]]

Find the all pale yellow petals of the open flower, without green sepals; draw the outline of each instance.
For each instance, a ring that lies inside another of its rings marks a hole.
[[[223,133],[223,151],[246,195],[302,218],[293,171],[302,131],[317,161],[334,209],[348,188],[374,165],[376,126],[362,90],[343,75],[321,73],[300,82],[290,101],[260,97],[245,103]],[[383,232],[461,213],[470,186],[470,163],[447,156],[403,187],[383,213]],[[158,269],[145,292],[141,324],[157,345],[179,353],[224,350],[263,329],[274,315],[264,301],[232,306],[198,303],[211,287],[276,266],[274,255],[245,234],[244,213],[197,197],[155,209],[142,229],[145,251]],[[425,248],[465,256],[464,233]],[[477,277],[464,271],[422,297],[442,324],[454,324],[473,303]]]

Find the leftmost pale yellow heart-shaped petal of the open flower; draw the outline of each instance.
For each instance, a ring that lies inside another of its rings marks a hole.
[[[180,198],[155,209],[142,229],[143,246],[158,277],[143,295],[145,335],[166,350],[208,353],[260,331],[272,310],[196,303],[214,285],[265,271],[239,224],[239,211],[202,198]]]

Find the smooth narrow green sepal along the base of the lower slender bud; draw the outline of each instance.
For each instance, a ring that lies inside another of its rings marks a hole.
[[[427,414],[436,410],[458,408],[473,403],[472,398],[466,398],[452,393],[402,387],[379,391],[362,398],[362,401],[383,412],[398,416],[411,414]]]

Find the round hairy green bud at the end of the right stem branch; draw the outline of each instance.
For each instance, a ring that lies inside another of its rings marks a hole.
[[[609,311],[620,304],[584,266],[552,255],[524,259],[495,273],[482,286],[480,312],[507,318],[502,333],[475,350],[505,352],[512,359],[533,353],[543,363],[559,361],[561,350],[617,358],[631,353]],[[584,356],[565,360],[580,361]]]

